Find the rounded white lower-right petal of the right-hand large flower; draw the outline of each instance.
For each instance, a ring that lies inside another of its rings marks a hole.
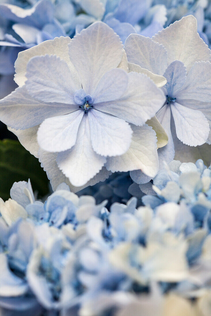
[[[176,135],[182,143],[189,146],[202,145],[209,135],[209,123],[204,114],[189,109],[179,103],[171,105]]]

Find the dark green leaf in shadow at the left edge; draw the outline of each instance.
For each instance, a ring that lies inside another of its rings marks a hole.
[[[40,196],[48,193],[48,178],[37,158],[18,141],[0,141],[0,197],[7,200],[15,181],[28,181]]]

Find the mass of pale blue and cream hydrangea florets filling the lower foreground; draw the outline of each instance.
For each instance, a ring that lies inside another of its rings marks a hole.
[[[64,183],[43,203],[15,182],[0,200],[1,315],[163,315],[180,300],[208,315],[211,170],[174,161],[154,183],[146,206],[108,210]]]

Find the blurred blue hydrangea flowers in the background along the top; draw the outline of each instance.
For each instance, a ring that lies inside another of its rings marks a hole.
[[[152,37],[182,16],[197,18],[198,32],[211,40],[209,0],[1,0],[0,98],[16,88],[14,62],[18,52],[56,36],[70,36],[104,21],[124,43],[137,33]]]

